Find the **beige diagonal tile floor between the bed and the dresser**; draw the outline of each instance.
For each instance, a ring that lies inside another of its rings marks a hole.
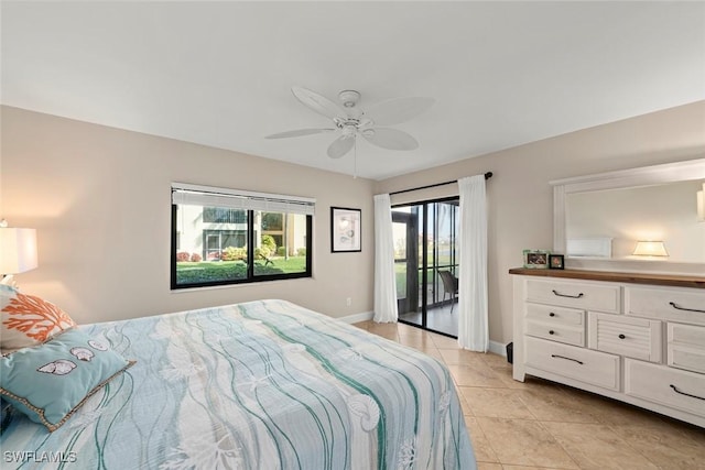
[[[443,360],[480,470],[705,470],[705,429],[541,379],[511,376],[492,353],[403,324],[357,327]]]

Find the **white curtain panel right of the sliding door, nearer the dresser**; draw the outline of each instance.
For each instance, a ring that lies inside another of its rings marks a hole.
[[[489,349],[487,309],[487,203],[485,175],[458,179],[459,283],[458,343],[470,351]]]

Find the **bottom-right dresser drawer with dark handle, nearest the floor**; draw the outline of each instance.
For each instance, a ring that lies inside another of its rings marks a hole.
[[[705,375],[625,359],[625,393],[705,417]]]

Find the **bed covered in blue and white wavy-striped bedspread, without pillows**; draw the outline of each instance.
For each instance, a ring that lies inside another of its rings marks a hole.
[[[476,468],[445,365],[289,302],[79,329],[135,363],[52,433],[11,412],[3,468]]]

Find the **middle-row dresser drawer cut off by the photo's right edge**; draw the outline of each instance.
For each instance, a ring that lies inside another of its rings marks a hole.
[[[705,373],[705,327],[668,324],[669,365]]]

